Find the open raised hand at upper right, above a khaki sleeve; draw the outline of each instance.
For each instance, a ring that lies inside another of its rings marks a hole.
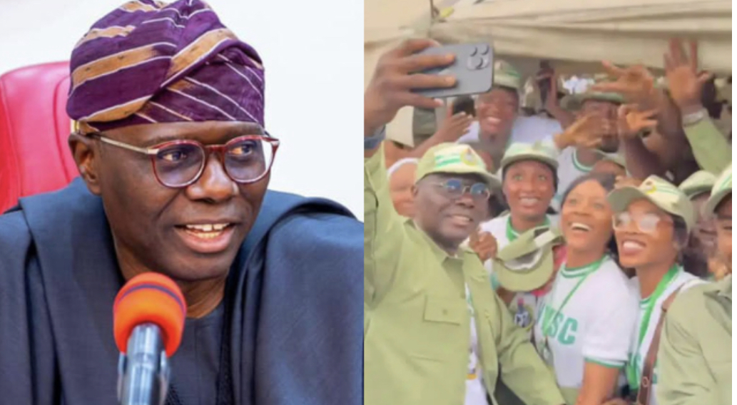
[[[663,64],[673,101],[682,111],[691,112],[702,108],[704,83],[712,78],[712,74],[698,71],[699,48],[696,41],[689,41],[688,48],[691,56],[683,49],[681,40],[671,39],[668,52],[663,55]]]

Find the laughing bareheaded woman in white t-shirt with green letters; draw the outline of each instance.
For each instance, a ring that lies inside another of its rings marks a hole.
[[[567,256],[543,297],[534,327],[538,353],[553,368],[568,405],[601,405],[615,395],[629,357],[638,298],[616,261],[615,178],[590,174],[562,199]]]

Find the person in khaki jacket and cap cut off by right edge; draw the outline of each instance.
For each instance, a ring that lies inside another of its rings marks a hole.
[[[717,245],[731,264],[731,164],[716,180],[705,212],[716,214]],[[674,300],[657,359],[659,405],[732,404],[731,275],[688,289]]]

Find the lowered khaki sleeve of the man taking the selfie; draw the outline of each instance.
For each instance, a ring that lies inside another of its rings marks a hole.
[[[527,332],[514,323],[501,298],[496,294],[494,297],[502,381],[527,405],[565,404],[553,372],[538,356]]]

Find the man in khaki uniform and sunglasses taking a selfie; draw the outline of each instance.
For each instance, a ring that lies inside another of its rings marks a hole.
[[[452,60],[413,55],[427,46],[433,43],[409,40],[385,54],[366,90],[364,403],[461,405],[469,395],[486,403],[500,375],[529,405],[563,404],[478,256],[460,247],[486,216],[489,186],[498,183],[481,158],[468,145],[433,147],[417,167],[415,218],[402,219],[392,207],[381,128],[405,105],[437,105],[410,88],[453,84],[411,74]]]

